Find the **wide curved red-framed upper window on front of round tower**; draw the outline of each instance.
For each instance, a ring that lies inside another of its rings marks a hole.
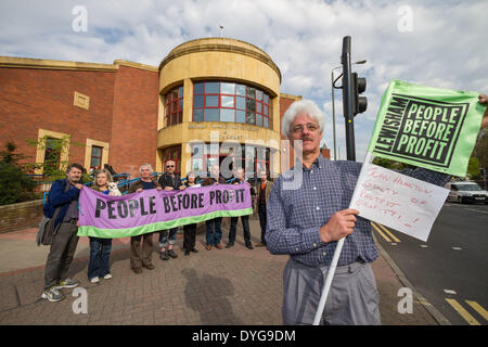
[[[232,121],[269,128],[269,94],[252,86],[204,81],[193,85],[193,121]]]

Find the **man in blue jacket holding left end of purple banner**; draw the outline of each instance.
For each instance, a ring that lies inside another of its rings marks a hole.
[[[52,184],[43,207],[44,216],[48,218],[52,218],[56,208],[60,208],[51,249],[46,261],[44,291],[41,296],[49,301],[64,299],[60,288],[72,288],[78,285],[77,281],[67,278],[67,272],[78,245],[78,196],[84,187],[80,183],[82,169],[84,167],[79,164],[69,165],[66,179],[57,180]]]

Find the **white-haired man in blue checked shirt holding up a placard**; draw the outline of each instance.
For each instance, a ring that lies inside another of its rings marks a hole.
[[[480,102],[488,103],[481,97]],[[483,126],[487,123],[488,112]],[[269,252],[291,256],[283,273],[283,323],[313,323],[337,241],[346,236],[321,323],[381,324],[370,266],[378,256],[371,224],[348,208],[361,163],[324,159],[323,129],[323,114],[308,100],[294,102],[282,121],[282,132],[300,159],[277,179],[267,205]],[[448,175],[421,168],[402,174],[437,185],[449,180]]]

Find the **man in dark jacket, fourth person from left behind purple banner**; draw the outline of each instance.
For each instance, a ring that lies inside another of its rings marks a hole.
[[[165,163],[165,174],[159,177],[159,184],[165,191],[172,191],[172,190],[184,190],[187,187],[181,183],[180,176],[175,174],[176,169],[176,163],[174,160],[166,160]],[[168,230],[162,230],[159,232],[159,258],[162,260],[169,260],[169,257],[177,258],[175,250],[172,249],[172,245],[176,242],[176,234],[177,234],[178,228],[169,229],[169,235]],[[168,250],[166,252],[166,248]]]

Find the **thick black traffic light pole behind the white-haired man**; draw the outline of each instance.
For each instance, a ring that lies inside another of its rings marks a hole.
[[[354,81],[350,68],[350,36],[343,38],[343,53],[341,55],[343,64],[343,110],[346,121],[346,150],[347,159],[356,160],[355,144],[355,101],[354,101]]]

